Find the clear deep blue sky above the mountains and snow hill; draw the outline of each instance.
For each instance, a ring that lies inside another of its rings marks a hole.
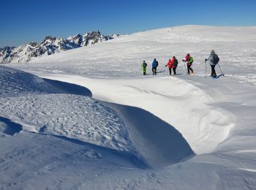
[[[256,0],[6,0],[0,47],[99,30],[131,34],[187,24],[256,26]]]

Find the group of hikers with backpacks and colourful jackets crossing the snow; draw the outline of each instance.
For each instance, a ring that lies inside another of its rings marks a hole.
[[[190,72],[193,74],[194,70],[191,67],[192,67],[194,60],[193,60],[192,56],[190,56],[190,54],[187,53],[187,56],[184,59],[182,59],[182,61],[187,62],[187,74],[190,75]],[[211,55],[205,59],[205,62],[206,61],[208,61],[211,66],[211,75],[210,76],[217,77],[217,74],[215,71],[215,66],[219,62],[219,56],[214,52],[214,50],[211,50]],[[143,63],[142,63],[143,75],[146,75],[146,66],[147,66],[146,61],[143,60]],[[154,61],[152,62],[153,75],[157,75],[157,66],[158,66],[158,61],[156,58],[154,58]],[[176,68],[178,66],[178,60],[176,59],[175,56],[173,56],[172,59],[169,59],[168,63],[165,64],[165,66],[168,66],[170,75],[172,75],[172,70],[173,70],[173,75],[177,75]]]

